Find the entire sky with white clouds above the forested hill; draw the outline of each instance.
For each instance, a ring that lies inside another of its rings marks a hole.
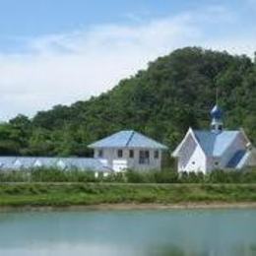
[[[256,0],[0,0],[0,120],[111,89],[172,50],[256,50]]]

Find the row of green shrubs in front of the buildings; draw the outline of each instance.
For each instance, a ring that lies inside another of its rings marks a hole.
[[[172,169],[112,172],[104,176],[90,170],[34,168],[30,170],[0,171],[0,182],[106,182],[106,183],[256,183],[256,169],[214,170],[177,173]]]

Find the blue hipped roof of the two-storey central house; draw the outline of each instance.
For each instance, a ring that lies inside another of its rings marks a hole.
[[[166,150],[167,147],[159,142],[135,131],[120,131],[102,140],[99,140],[89,148],[147,148]]]

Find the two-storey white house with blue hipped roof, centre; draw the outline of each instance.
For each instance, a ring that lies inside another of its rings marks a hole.
[[[117,132],[89,148],[94,149],[95,159],[114,171],[160,169],[162,152],[167,150],[166,146],[135,131]]]

